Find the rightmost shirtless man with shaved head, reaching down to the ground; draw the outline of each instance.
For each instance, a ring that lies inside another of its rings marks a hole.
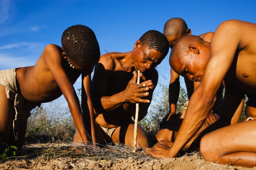
[[[177,41],[170,65],[178,74],[201,83],[191,96],[174,143],[169,146],[157,143],[152,149],[146,149],[146,153],[155,157],[177,156],[202,127],[214,106],[218,88],[225,80],[222,117],[207,129],[222,128],[202,138],[201,154],[207,161],[220,164],[256,166],[256,120],[237,123],[244,94],[256,94],[255,31],[254,23],[229,20],[218,26],[211,44],[195,36],[184,36]],[[200,62],[196,60],[198,57]]]

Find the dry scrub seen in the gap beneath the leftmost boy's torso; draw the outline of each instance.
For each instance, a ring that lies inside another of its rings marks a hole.
[[[45,143],[71,140],[76,126],[62,99],[42,104],[31,111],[28,119],[26,142]]]

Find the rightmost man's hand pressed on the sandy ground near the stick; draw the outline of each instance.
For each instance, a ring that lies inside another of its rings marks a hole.
[[[152,148],[146,148],[144,152],[154,156],[155,158],[170,158],[170,156],[168,156],[170,149],[171,147],[166,145],[165,141],[162,141],[162,143],[156,143]]]

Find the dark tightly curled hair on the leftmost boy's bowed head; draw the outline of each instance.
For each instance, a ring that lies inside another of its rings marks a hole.
[[[61,43],[66,55],[78,66],[87,66],[100,57],[100,47],[92,29],[73,25],[62,34]]]

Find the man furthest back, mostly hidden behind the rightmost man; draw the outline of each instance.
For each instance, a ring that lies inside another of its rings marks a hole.
[[[199,35],[204,41],[211,42],[213,32],[208,32],[202,35]],[[169,42],[169,47],[172,48],[174,43],[177,39],[185,35],[191,35],[191,30],[188,28],[186,22],[181,18],[172,18],[168,20],[164,25],[164,35],[167,37]],[[170,142],[174,142],[175,136],[178,132],[178,129],[181,125],[182,119],[186,113],[186,106],[182,109],[180,113],[176,113],[176,106],[179,98],[180,93],[180,75],[174,72],[171,68],[171,78],[169,84],[169,104],[170,110],[168,115],[164,118],[162,123],[160,124],[160,131],[156,134],[156,139],[158,141],[166,140]],[[188,94],[188,100],[190,99],[192,93],[200,84],[200,82],[193,82],[188,79],[188,77],[184,77],[184,81],[186,83],[186,89]],[[222,103],[223,103],[223,96],[222,96],[223,86],[218,91],[218,99],[214,105],[213,111],[206,119],[206,122],[198,131],[198,133],[190,140],[190,142],[186,145],[186,148],[190,146],[190,144],[196,139],[196,137],[203,131],[206,127],[214,123],[217,119],[220,118],[221,110],[222,110]],[[196,145],[196,144],[195,144]]]

